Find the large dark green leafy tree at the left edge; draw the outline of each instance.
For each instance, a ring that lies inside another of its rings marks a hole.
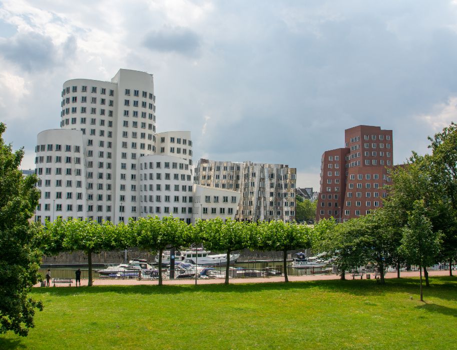
[[[12,330],[26,336],[34,327],[35,309],[41,301],[28,293],[39,279],[41,251],[37,245],[40,226],[29,219],[40,198],[36,175],[23,177],[19,169],[24,149],[5,144],[0,123],[0,333]]]

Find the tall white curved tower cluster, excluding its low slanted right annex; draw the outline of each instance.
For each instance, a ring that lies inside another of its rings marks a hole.
[[[120,69],[111,81],[68,80],[61,105],[61,129],[37,137],[36,221],[117,223],[148,215],[192,221],[191,133],[156,134],[152,74]]]

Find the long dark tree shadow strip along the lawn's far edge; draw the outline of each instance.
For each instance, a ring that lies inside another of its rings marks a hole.
[[[425,292],[429,296],[455,299],[457,297],[457,280],[448,280],[447,277],[430,278],[431,286]],[[433,284],[435,281],[435,284]],[[231,283],[218,284],[165,284],[159,285],[94,285],[92,287],[59,287],[59,288],[34,288],[34,294],[68,296],[74,294],[97,294],[97,293],[118,293],[118,294],[181,294],[195,292],[209,293],[248,293],[265,290],[297,291],[300,289],[319,288],[328,292],[347,293],[357,296],[376,296],[385,293],[417,293],[419,281],[417,278],[387,279],[386,284],[377,283],[367,279],[347,280],[312,280],[265,283]]]

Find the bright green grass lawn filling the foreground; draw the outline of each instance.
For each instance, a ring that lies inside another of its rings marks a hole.
[[[36,327],[0,348],[455,348],[457,278],[430,282],[34,288]]]

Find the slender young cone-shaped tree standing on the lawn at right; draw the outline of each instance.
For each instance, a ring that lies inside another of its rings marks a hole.
[[[440,244],[440,232],[433,231],[423,201],[414,201],[413,209],[408,213],[408,225],[403,228],[401,243],[408,260],[419,266],[420,301],[423,301],[421,267],[434,263]]]

